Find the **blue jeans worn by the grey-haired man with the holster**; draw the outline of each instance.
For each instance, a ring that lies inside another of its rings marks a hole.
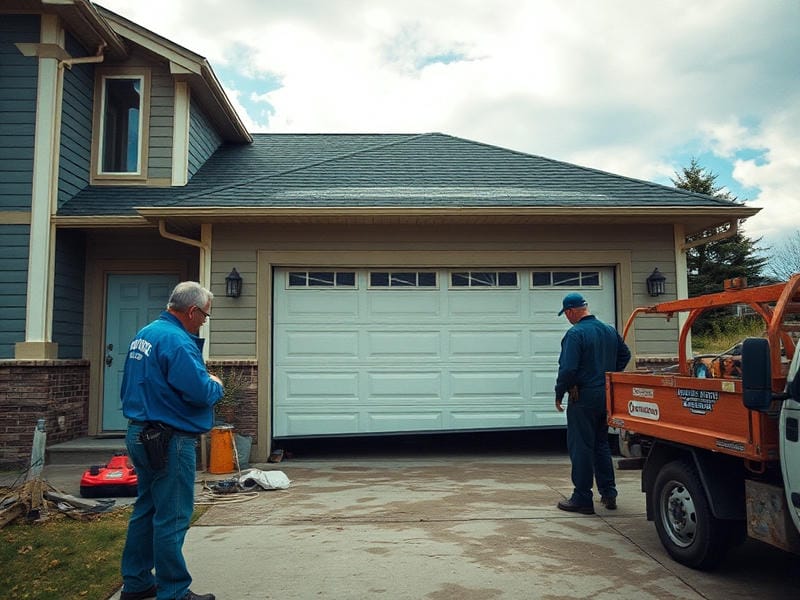
[[[125,440],[136,467],[138,496],[122,551],[123,589],[140,592],[156,584],[159,599],[183,598],[192,583],[183,540],[194,510],[197,437],[176,432],[167,466],[154,471],[139,441],[142,429],[131,423]]]

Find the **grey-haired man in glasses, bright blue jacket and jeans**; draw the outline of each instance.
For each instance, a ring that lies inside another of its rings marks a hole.
[[[126,445],[138,496],[122,552],[120,600],[215,598],[189,589],[183,558],[194,509],[197,438],[211,429],[223,393],[222,382],[206,369],[205,340],[198,337],[213,298],[194,281],[179,283],[167,310],[136,334],[125,359],[122,412],[129,419]]]

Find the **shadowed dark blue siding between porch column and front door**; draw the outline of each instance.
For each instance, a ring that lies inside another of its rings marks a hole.
[[[53,286],[53,341],[58,344],[58,358],[81,358],[83,354],[85,268],[83,233],[59,230]]]

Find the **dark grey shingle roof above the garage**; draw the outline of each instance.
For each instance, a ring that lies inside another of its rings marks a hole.
[[[255,134],[185,187],[90,186],[59,215],[134,207],[705,207],[740,204],[440,133]]]

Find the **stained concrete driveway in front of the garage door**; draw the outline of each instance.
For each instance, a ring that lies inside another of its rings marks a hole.
[[[618,510],[559,511],[571,492],[563,452],[258,466],[292,484],[232,495],[191,528],[185,554],[196,592],[220,600],[800,597],[797,557],[759,542],[710,574],[673,562],[645,520],[638,471],[618,471]]]

